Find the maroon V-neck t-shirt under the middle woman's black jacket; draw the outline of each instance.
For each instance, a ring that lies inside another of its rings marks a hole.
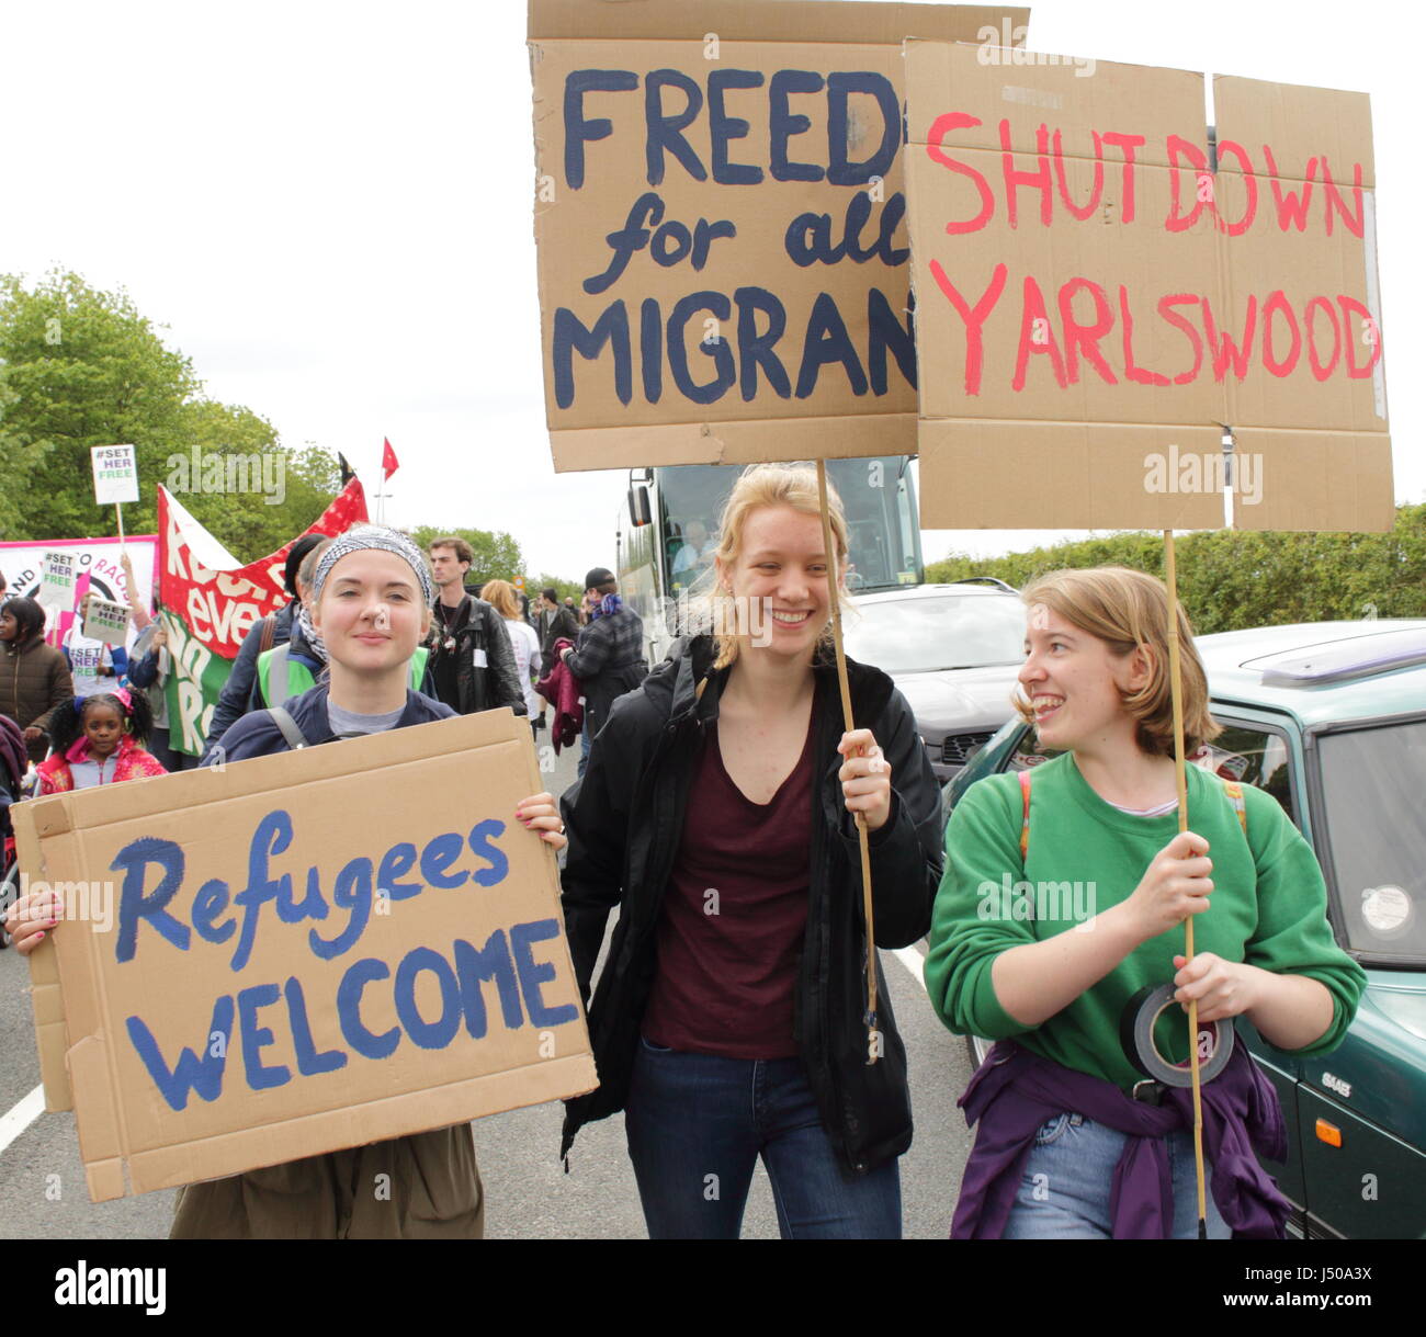
[[[813,711],[816,717],[816,711]],[[643,1033],[730,1059],[786,1059],[811,871],[813,724],[770,802],[747,798],[707,730],[659,919]]]

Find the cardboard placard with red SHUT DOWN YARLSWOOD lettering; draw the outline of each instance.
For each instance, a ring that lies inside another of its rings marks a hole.
[[[924,526],[1390,527],[1365,94],[906,60]]]

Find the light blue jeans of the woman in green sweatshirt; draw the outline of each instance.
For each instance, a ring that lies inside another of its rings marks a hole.
[[[1125,1133],[1085,1119],[1058,1115],[1035,1135],[1015,1206],[1005,1222],[1007,1240],[1108,1240],[1109,1189],[1114,1167],[1124,1150]],[[1194,1135],[1168,1135],[1168,1165],[1174,1180],[1175,1240],[1198,1239],[1198,1186],[1194,1175]],[[1204,1166],[1208,1192],[1208,1237],[1226,1240],[1232,1232],[1214,1204],[1208,1184],[1212,1166]]]

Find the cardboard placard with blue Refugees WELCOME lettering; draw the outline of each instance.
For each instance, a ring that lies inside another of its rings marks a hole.
[[[19,804],[31,889],[88,907],[31,964],[91,1199],[593,1089],[539,787],[486,711]]]

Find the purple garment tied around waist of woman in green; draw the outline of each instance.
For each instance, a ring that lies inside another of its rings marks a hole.
[[[1162,1105],[1135,1100],[1112,1082],[1075,1072],[1014,1041],[1000,1041],[957,1102],[968,1125],[980,1123],[961,1177],[953,1240],[1000,1239],[1015,1203],[1025,1159],[1041,1125],[1078,1113],[1125,1133],[1109,1186],[1117,1240],[1168,1239],[1174,1189],[1165,1136],[1194,1127],[1194,1093],[1165,1088]],[[1258,1163],[1288,1155],[1288,1133],[1272,1083],[1242,1045],[1228,1066],[1202,1086],[1204,1160],[1209,1192],[1233,1239],[1282,1239],[1291,1204]]]

